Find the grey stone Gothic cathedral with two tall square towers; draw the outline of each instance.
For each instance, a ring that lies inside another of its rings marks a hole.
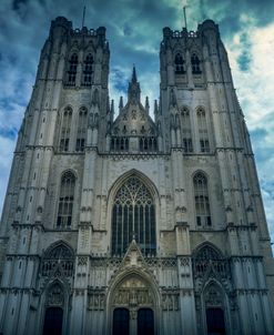
[[[0,226],[4,335],[274,334],[274,262],[217,26],[163,29],[160,100],[52,21]]]

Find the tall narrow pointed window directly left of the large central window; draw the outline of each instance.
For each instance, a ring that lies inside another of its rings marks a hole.
[[[70,227],[72,224],[72,210],[74,202],[75,176],[72,172],[65,172],[61,179],[59,205],[58,205],[58,227]]]

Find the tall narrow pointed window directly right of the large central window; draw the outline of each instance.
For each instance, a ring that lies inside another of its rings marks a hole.
[[[211,210],[206,176],[199,172],[193,177],[196,225],[199,227],[211,227]]]

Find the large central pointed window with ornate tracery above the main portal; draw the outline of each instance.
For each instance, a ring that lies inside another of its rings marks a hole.
[[[118,191],[112,209],[112,254],[123,255],[135,238],[145,255],[154,255],[155,205],[149,189],[135,176]]]

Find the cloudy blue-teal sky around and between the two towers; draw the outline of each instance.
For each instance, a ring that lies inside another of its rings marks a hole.
[[[132,64],[144,95],[159,98],[159,44],[163,27],[181,30],[185,0],[0,1],[0,213],[17,132],[30,99],[50,22],[64,16],[80,28],[106,27],[111,49],[110,92],[124,95]],[[187,28],[213,19],[226,45],[234,84],[250,129],[274,242],[274,1],[189,0]]]

